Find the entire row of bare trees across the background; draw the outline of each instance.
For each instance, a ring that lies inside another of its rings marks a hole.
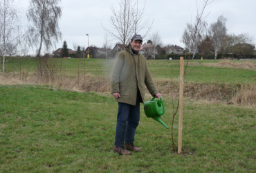
[[[0,1],[0,57],[3,57],[0,63],[3,62],[3,73],[6,55],[26,55],[30,48],[35,48],[36,55],[39,57],[42,54],[42,48],[50,51],[50,48],[53,48],[61,39],[62,33],[58,26],[62,16],[60,2],[61,0],[30,0],[30,6],[26,11],[29,26],[22,28],[18,4],[15,4],[14,0]],[[143,37],[149,35],[154,20],[150,17],[143,19],[146,1],[143,6],[140,6],[139,2],[139,0],[120,0],[118,7],[111,6],[112,15],[109,20],[111,28],[102,26],[106,31],[104,37],[106,58],[107,50],[111,47],[107,33],[123,45],[128,44],[131,36],[138,32],[143,33]],[[212,1],[206,2],[209,4]],[[198,11],[194,23],[187,24],[181,39],[190,53],[194,55],[200,48],[202,52],[214,53],[216,58],[220,51],[242,56],[244,52],[249,53],[250,50],[254,50],[254,47],[250,46],[253,39],[248,35],[227,34],[226,19],[223,16],[207,28],[206,17],[200,14]],[[154,33],[149,39],[154,50],[147,49],[151,52],[148,51],[146,54],[156,53],[156,49],[159,53],[163,46],[161,37],[158,33]],[[86,46],[80,46],[80,49],[84,50],[84,48]]]

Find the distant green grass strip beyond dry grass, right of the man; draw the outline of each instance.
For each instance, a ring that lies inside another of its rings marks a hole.
[[[193,63],[198,65],[188,64],[188,68],[185,74],[185,80],[190,82],[227,82],[233,84],[251,84],[256,83],[256,71],[250,71],[246,69],[232,69],[232,68],[220,68],[214,66],[204,66],[208,63],[218,63],[217,61],[201,61],[194,60]],[[234,62],[234,61],[232,61]],[[246,61],[240,61],[236,63],[244,63]],[[255,63],[256,61],[251,61]],[[149,60],[147,61],[149,70],[154,78],[169,78],[174,79],[179,77],[179,60]],[[186,61],[184,61],[185,66]]]

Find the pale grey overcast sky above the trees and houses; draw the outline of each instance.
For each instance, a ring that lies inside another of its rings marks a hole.
[[[22,0],[22,6],[28,8],[29,0]],[[89,45],[103,46],[105,31],[102,28],[109,26],[111,16],[110,6],[118,7],[120,0],[62,0],[62,18],[60,30],[62,41],[57,48],[62,47],[66,40],[68,48],[73,49],[73,42],[80,46]],[[140,5],[143,7],[143,0]],[[197,0],[197,7],[202,8],[202,0]],[[196,0],[147,0],[144,19],[149,16],[154,19],[152,33],[158,32],[163,44],[176,44],[184,46],[180,40],[186,23],[194,21],[196,16]],[[208,15],[208,26],[216,22],[220,15],[227,19],[226,28],[228,34],[248,33],[256,39],[256,1],[255,0],[215,0],[206,6],[204,15]],[[143,35],[143,33],[139,33]],[[108,36],[111,38],[110,35]],[[112,41],[114,45],[117,41]]]

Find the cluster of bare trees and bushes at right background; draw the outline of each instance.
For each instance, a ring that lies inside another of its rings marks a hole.
[[[194,55],[201,51],[201,55],[205,53],[214,53],[217,59],[218,53],[236,55],[237,58],[248,57],[255,54],[255,46],[253,45],[253,37],[248,34],[230,34],[227,33],[226,18],[219,16],[217,21],[208,24],[205,18],[196,16],[194,24],[187,23],[181,42],[185,44],[186,49]]]

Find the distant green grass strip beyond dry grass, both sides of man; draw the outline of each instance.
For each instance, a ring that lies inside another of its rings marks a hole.
[[[77,73],[100,76],[109,76],[113,65],[113,60],[104,59],[54,59],[57,64],[62,63],[62,72],[68,75],[77,75]],[[227,67],[205,66],[204,64],[217,64],[221,60],[194,60],[189,64],[185,74],[187,82],[201,82],[208,84],[210,82],[232,83],[232,84],[252,84],[256,83],[256,71],[248,69],[232,69]],[[256,64],[256,61],[230,61],[235,64],[250,62]],[[185,61],[186,63],[186,61]],[[149,70],[154,78],[178,79],[179,78],[179,60],[148,60]],[[0,67],[1,68],[1,67]],[[27,58],[22,60],[13,58],[6,63],[7,72],[22,73],[26,71],[35,71],[36,61]]]

